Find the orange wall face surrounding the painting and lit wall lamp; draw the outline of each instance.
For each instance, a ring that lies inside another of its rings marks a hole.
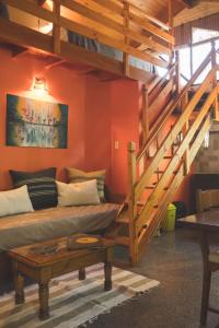
[[[26,56],[12,58],[0,50],[0,189],[11,186],[9,169],[34,171],[58,167],[58,178],[64,178],[64,167],[84,165],[84,78],[73,77],[64,68],[45,69],[45,62]],[[39,149],[5,147],[5,95],[25,94],[33,77],[46,78],[49,93],[58,102],[69,105],[68,149]]]

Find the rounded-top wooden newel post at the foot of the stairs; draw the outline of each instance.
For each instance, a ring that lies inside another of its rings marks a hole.
[[[136,226],[135,220],[137,215],[137,200],[135,194],[135,184],[137,180],[137,169],[136,169],[136,143],[128,143],[128,178],[129,178],[129,249],[130,249],[130,260],[136,262],[138,258],[137,253],[137,239],[136,239]]]

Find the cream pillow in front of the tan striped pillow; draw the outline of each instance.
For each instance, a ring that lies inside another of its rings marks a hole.
[[[77,184],[64,184],[56,181],[58,189],[58,206],[83,206],[100,203],[96,180]]]

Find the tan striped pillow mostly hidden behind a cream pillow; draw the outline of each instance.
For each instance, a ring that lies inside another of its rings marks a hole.
[[[84,172],[81,169],[67,167],[67,172],[68,172],[69,181],[73,184],[96,179],[100,200],[105,201],[105,197],[104,197],[105,169]]]

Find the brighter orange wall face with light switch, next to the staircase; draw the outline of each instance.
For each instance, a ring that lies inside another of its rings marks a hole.
[[[139,90],[135,81],[118,80],[111,86],[112,102],[112,190],[125,194],[128,188],[127,143],[139,143]],[[118,141],[118,149],[115,149]]]

